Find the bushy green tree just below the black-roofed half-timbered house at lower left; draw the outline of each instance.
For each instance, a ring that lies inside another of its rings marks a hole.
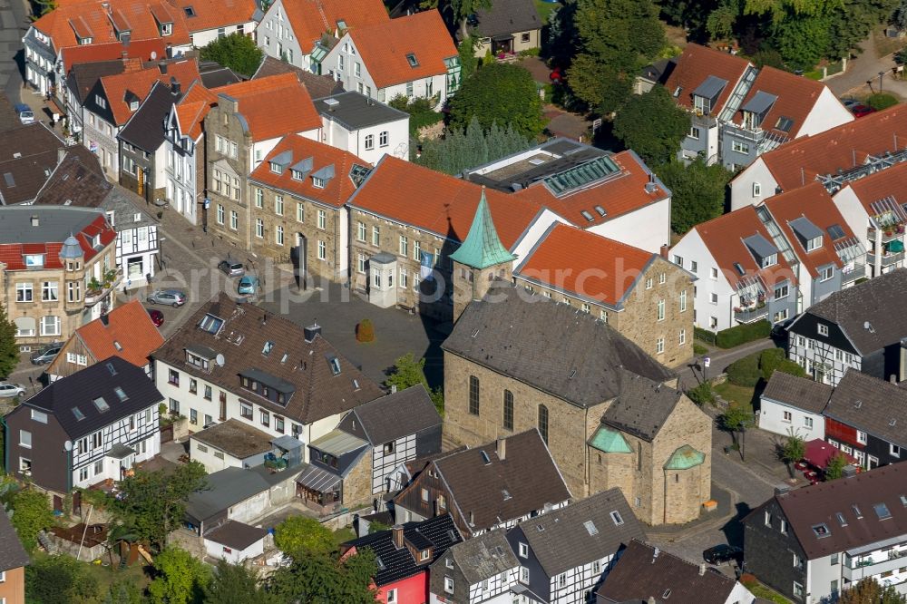
[[[190,493],[205,486],[207,473],[198,462],[180,465],[173,471],[140,470],[120,482],[122,498],[112,500],[112,511],[120,521],[132,526],[140,540],[163,549],[171,529],[182,522]]]

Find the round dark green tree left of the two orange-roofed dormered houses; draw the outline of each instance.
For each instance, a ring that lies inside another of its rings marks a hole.
[[[651,165],[670,161],[689,132],[689,113],[664,86],[634,94],[614,118],[614,136]]]

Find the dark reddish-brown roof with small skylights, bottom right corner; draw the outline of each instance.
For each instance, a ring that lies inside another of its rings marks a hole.
[[[907,534],[907,506],[902,500],[905,496],[907,464],[892,463],[855,476],[778,494],[774,499],[784,511],[806,558],[815,560],[834,552],[869,546],[876,541],[902,538]],[[880,519],[875,507],[880,503],[891,513],[891,518]],[[762,522],[765,505],[751,511],[744,521]],[[862,518],[857,517],[854,506]],[[838,513],[844,516],[847,526],[841,526]],[[821,538],[813,531],[818,524],[824,524],[827,529]]]

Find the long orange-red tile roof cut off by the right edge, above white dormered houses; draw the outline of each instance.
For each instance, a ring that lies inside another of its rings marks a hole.
[[[783,190],[802,187],[817,175],[847,170],[868,155],[907,147],[907,105],[895,105],[831,130],[788,142],[760,156]],[[756,160],[756,161],[759,161]]]

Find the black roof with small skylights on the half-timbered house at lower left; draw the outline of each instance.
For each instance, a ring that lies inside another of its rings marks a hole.
[[[114,389],[118,387],[126,394],[125,401],[116,394]],[[108,410],[98,410],[93,402],[98,397],[104,399]],[[26,400],[22,407],[35,407],[54,414],[63,431],[76,439],[163,400],[163,395],[141,367],[119,356],[111,356],[53,382]],[[73,412],[75,407],[83,414],[83,419],[77,418]]]

